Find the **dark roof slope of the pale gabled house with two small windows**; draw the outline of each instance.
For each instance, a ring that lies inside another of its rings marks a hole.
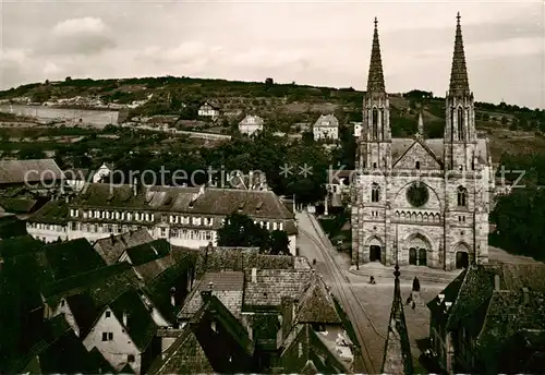
[[[126,314],[126,332],[136,347],[144,352],[157,331],[152,314],[135,290],[129,290],[109,304],[118,320],[122,324]]]

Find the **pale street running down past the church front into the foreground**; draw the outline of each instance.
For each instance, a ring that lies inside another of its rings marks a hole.
[[[376,374],[382,371],[384,346],[393,298],[393,268],[391,276],[378,277],[376,285],[368,283],[368,276],[349,271],[348,254],[339,253],[331,245],[314,216],[303,211],[296,214],[299,225],[299,255],[306,256],[314,268],[337,297],[350,317],[361,346],[361,367],[356,372]],[[384,271],[384,266],[378,265]],[[370,265],[367,269],[374,269]],[[403,273],[403,268],[401,269]],[[389,275],[389,273],[388,273]],[[415,371],[420,370],[417,358],[425,350],[429,327],[429,312],[425,303],[437,295],[456,275],[441,278],[437,282],[423,282],[421,301],[412,310],[404,306],[404,315],[411,341],[411,353]],[[401,279],[402,298],[409,297],[412,281]]]

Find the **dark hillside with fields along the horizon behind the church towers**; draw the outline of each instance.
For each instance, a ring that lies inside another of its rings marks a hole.
[[[263,117],[270,129],[296,131],[296,124],[312,123],[319,113],[335,113],[341,124],[361,121],[362,92],[353,88],[313,87],[265,82],[234,82],[191,77],[144,77],[128,80],[72,80],[35,83],[0,92],[3,102],[25,102],[80,108],[126,108],[126,119],[175,114],[195,120],[204,100],[222,111],[220,124],[228,128],[244,114]],[[395,136],[416,131],[422,111],[427,136],[443,136],[444,98],[412,90],[390,94]],[[545,111],[507,104],[475,104],[477,129],[491,138],[494,159],[502,152],[526,153],[545,149]],[[125,118],[125,116],[123,116]]]

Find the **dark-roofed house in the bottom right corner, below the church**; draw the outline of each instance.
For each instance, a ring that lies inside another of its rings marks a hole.
[[[427,306],[446,373],[545,371],[544,264],[471,265]]]

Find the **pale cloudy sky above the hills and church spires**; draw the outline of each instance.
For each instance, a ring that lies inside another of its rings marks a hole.
[[[0,88],[66,76],[192,76],[444,96],[460,12],[476,101],[545,109],[545,2],[1,0]]]

